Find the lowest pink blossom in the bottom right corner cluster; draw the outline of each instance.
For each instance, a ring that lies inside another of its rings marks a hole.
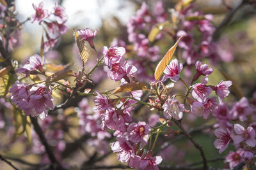
[[[244,150],[239,148],[236,152],[230,151],[226,157],[226,161],[229,162],[230,168],[237,166],[240,162],[243,162]]]

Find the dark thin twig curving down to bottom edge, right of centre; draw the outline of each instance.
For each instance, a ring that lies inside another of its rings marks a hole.
[[[202,157],[202,160],[204,162],[204,169],[207,169],[207,159],[205,158],[204,150],[202,149],[202,146],[200,146],[196,141],[190,136],[190,134],[182,127],[181,123],[178,120],[173,119],[172,120],[180,129],[180,131],[187,136],[187,138],[193,143],[196,149],[199,150],[200,155]]]

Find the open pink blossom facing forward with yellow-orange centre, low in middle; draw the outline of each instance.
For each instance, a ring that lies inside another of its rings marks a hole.
[[[146,145],[150,131],[150,127],[145,122],[132,123],[127,127],[127,132],[129,134],[129,140],[133,143],[141,143],[141,146]]]

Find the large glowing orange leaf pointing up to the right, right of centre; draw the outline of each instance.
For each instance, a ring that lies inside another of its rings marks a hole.
[[[180,38],[182,38],[182,36]],[[164,55],[163,59],[157,64],[156,71],[155,71],[155,79],[157,81],[163,74],[165,67],[169,64],[170,60],[172,59],[173,53],[175,52],[175,49],[180,41],[180,38],[175,43],[175,45],[173,45],[172,48],[168,50],[168,52]]]

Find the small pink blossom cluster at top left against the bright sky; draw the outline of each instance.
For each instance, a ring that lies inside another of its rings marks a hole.
[[[53,48],[58,42],[58,38],[62,34],[67,32],[67,15],[65,13],[65,8],[59,6],[58,1],[56,1],[55,6],[52,11],[44,9],[44,3],[41,2],[36,6],[33,4],[35,9],[35,14],[31,15],[31,22],[37,21],[40,25],[43,25],[45,30],[44,41],[44,52],[48,52],[50,48]]]

